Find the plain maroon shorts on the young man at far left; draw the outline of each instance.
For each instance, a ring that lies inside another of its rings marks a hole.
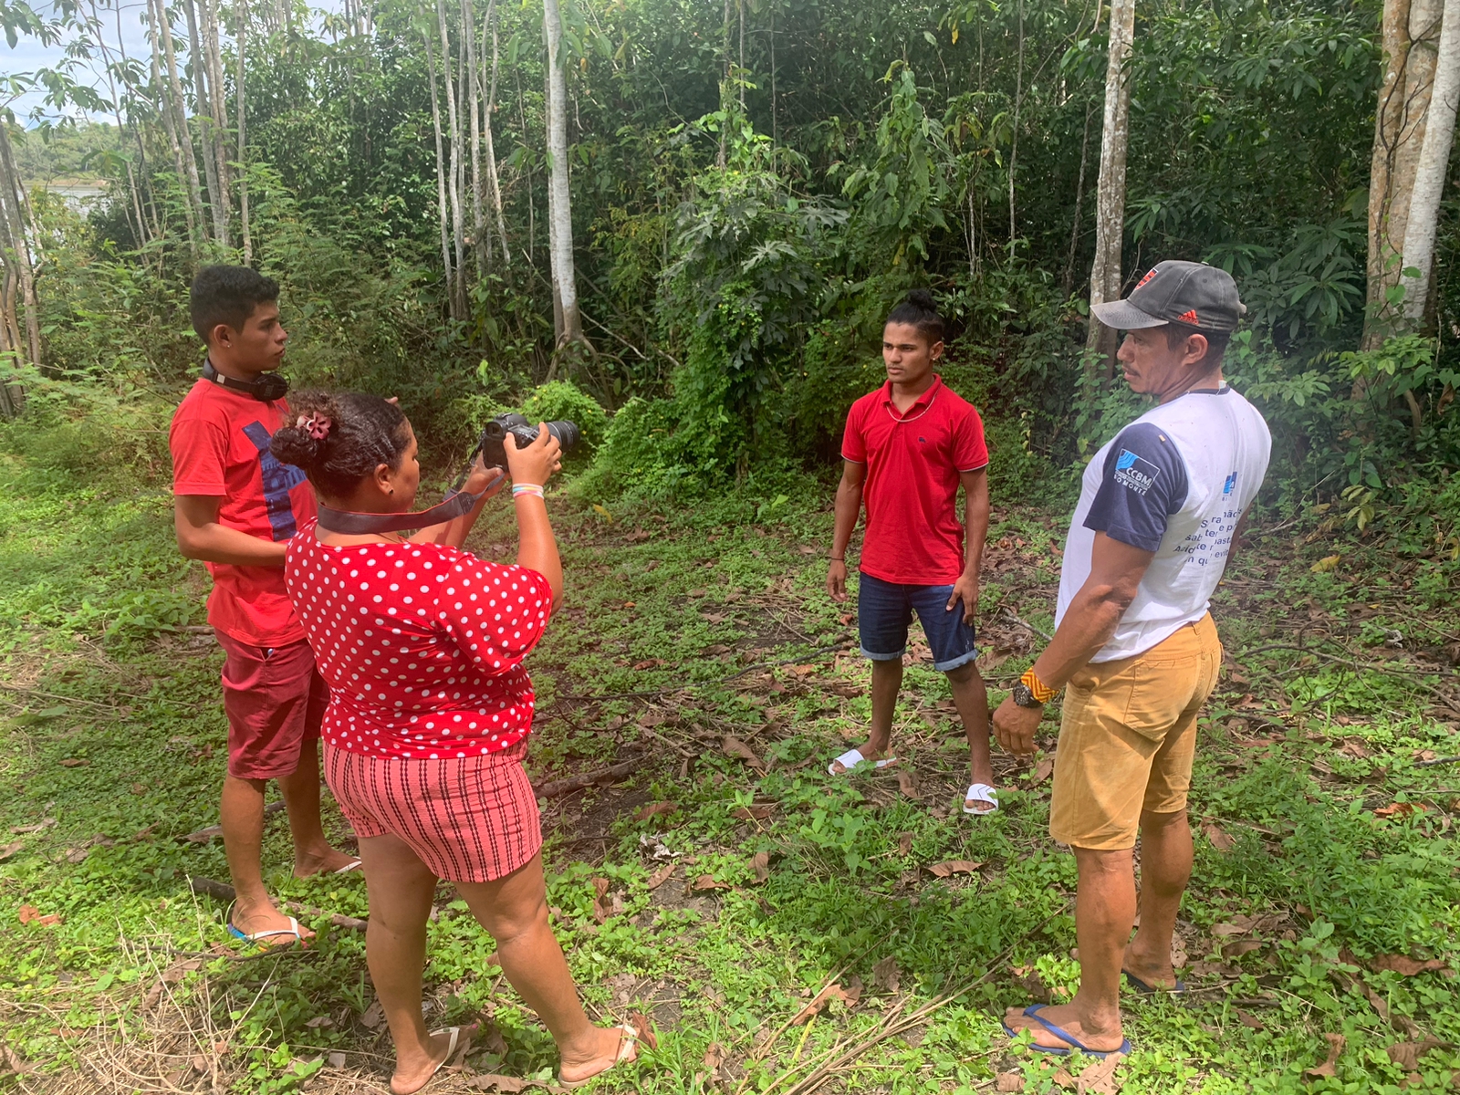
[[[228,774],[239,780],[293,775],[299,750],[320,737],[330,689],[308,642],[270,650],[215,631],[223,660]]]

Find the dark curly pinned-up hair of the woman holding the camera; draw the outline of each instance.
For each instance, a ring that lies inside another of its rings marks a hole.
[[[269,451],[304,472],[320,493],[343,498],[380,464],[400,467],[410,423],[394,403],[353,391],[304,391],[291,403],[295,422],[273,435]]]

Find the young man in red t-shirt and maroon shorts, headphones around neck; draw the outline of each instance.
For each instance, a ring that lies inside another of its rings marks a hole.
[[[277,301],[277,282],[247,267],[199,272],[191,314],[207,361],[172,416],[168,445],[178,548],[213,575],[207,622],[226,656],[220,821],[238,892],[229,930],[292,943],[311,933],[264,888],[264,784],[277,780],[283,793],[296,876],[349,870],[359,860],[330,847],[320,823],[318,737],[328,689],[283,583],[285,546],[315,504],[304,473],[269,451],[289,416],[289,385],[274,374],[288,339]]]

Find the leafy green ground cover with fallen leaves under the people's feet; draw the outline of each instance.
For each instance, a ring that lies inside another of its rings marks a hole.
[[[815,483],[657,511],[553,499],[569,599],[531,663],[530,769],[642,762],[545,803],[555,926],[584,994],[657,1034],[602,1091],[1448,1089],[1460,775],[1425,762],[1460,752],[1460,623],[1431,607],[1440,564],[1257,523],[1218,606],[1232,661],[1193,797],[1193,991],[1129,1000],[1134,1054],[1108,1079],[1069,1061],[1072,1079],[997,1023],[1077,978],[1048,755],[997,756],[1004,807],[961,815],[965,752],[924,651],[895,731],[902,775],[825,775],[869,714],[853,619],[822,593],[829,501]],[[305,917],[308,950],[245,955],[225,905],[188,886],[226,879],[219,841],[178,840],[216,822],[226,750],[204,578],[177,558],[168,508],[153,486],[77,489],[0,461],[0,1086],[381,1091],[362,933]],[[495,508],[473,546],[510,556],[508,518]],[[1042,644],[1018,620],[1051,626],[1063,520],[996,512],[996,698]],[[328,800],[327,823],[347,841]],[[266,863],[283,898],[368,914],[358,876],[288,875],[282,816]],[[492,950],[442,886],[431,1021],[488,1034],[431,1091],[552,1076]]]

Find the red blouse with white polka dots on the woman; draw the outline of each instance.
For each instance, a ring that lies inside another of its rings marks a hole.
[[[323,736],[369,756],[476,756],[533,723],[523,669],[552,590],[526,566],[426,543],[289,540],[285,584],[330,686]]]

